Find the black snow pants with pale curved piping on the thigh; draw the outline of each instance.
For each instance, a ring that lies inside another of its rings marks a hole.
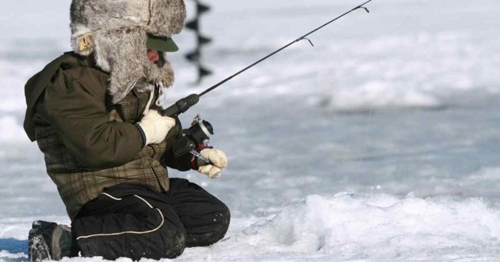
[[[159,193],[144,184],[119,184],[88,202],[71,223],[83,257],[176,258],[186,247],[209,246],[229,227],[229,209],[201,187],[170,179]]]

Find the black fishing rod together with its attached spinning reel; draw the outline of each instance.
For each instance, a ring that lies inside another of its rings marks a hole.
[[[290,45],[299,42],[301,40],[307,40],[312,46],[312,41],[307,38],[310,34],[318,31],[319,29],[325,27],[326,25],[340,19],[341,17],[349,14],[350,12],[357,10],[357,9],[364,9],[366,12],[370,12],[368,8],[366,8],[364,5],[371,2],[372,0],[367,0],[363,2],[360,5],[357,5],[356,7],[344,12],[343,14],[331,19],[330,21],[326,22],[325,24],[314,28],[312,31],[298,37],[297,39],[289,42],[288,44],[282,46],[281,48],[275,50],[274,52],[260,58],[259,60],[255,61],[254,63],[248,65],[247,67],[239,70],[238,72],[232,74],[231,76],[225,78],[224,80],[214,84],[213,86],[209,87],[205,91],[199,93],[199,94],[191,94],[187,97],[184,97],[177,102],[175,102],[173,105],[169,106],[165,110],[160,111],[160,114],[162,116],[169,116],[173,118],[177,118],[177,116],[181,113],[186,112],[191,106],[197,104],[199,102],[199,98],[208,92],[212,91],[213,89],[221,86],[222,84],[226,83],[227,81],[231,80],[232,78],[236,77],[237,75],[245,72],[246,70],[252,68],[253,66],[259,64],[260,62],[268,59],[269,57],[275,55],[276,53],[282,51],[283,49],[286,49]],[[177,122],[180,125],[180,122],[177,119]],[[182,127],[180,127],[182,130]],[[210,136],[213,135],[213,127],[212,125],[205,120],[202,120],[199,114],[194,118],[193,122],[191,123],[191,127],[189,127],[186,130],[181,131],[181,135],[177,140],[172,145],[172,151],[176,157],[179,157],[183,154],[186,153],[191,153],[193,156],[197,157],[198,159],[202,160],[204,164],[210,164],[210,161],[208,159],[205,159],[199,154],[199,150],[201,148],[206,148],[208,146]],[[197,164],[196,164],[197,165]]]

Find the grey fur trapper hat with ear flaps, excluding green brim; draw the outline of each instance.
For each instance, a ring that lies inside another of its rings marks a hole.
[[[160,61],[147,60],[147,35],[179,33],[186,17],[183,0],[72,0],[71,46],[93,54],[97,66],[109,73],[109,94],[117,103],[138,80],[173,83],[173,70],[164,52]],[[150,86],[135,87],[139,92]]]

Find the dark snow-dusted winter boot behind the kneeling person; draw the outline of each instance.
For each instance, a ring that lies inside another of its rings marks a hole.
[[[28,259],[31,262],[71,257],[71,229],[46,221],[35,221],[28,235]]]

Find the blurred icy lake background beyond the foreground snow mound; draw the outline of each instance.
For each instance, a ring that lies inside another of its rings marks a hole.
[[[354,0],[212,0],[201,16],[195,84],[174,40],[169,105],[319,26]],[[69,0],[0,3],[0,235],[25,239],[34,219],[67,223],[43,156],[22,129],[23,86],[70,49]],[[188,19],[194,2],[186,0]],[[374,0],[245,72],[182,116],[214,126],[229,167],[217,180],[171,170],[219,197],[234,218],[263,217],[307,195],[483,197],[500,204],[500,2]]]

